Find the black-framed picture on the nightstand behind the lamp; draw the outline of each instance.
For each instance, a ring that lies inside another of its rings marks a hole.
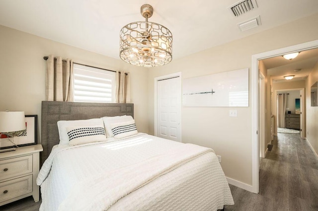
[[[17,133],[14,137],[10,137],[10,140],[18,146],[37,144],[37,126],[38,115],[25,115],[26,129]],[[12,145],[6,135],[2,134],[0,136],[0,149],[11,148]]]

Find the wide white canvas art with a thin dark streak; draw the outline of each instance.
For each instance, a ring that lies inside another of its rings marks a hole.
[[[248,68],[182,82],[184,107],[248,107]]]

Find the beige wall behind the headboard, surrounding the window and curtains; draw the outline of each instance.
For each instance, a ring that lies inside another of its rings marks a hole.
[[[146,68],[131,66],[121,60],[4,26],[0,26],[0,110],[22,110],[27,115],[37,114],[39,126],[41,125],[41,101],[45,100],[46,71],[46,62],[43,57],[50,54],[107,70],[130,71],[131,101],[135,106],[138,131],[148,133],[148,70]]]

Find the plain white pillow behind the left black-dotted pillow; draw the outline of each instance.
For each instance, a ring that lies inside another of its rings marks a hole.
[[[100,118],[89,119],[89,120],[60,120],[58,121],[58,129],[60,135],[60,144],[69,144],[69,136],[66,128],[70,127],[104,127],[103,121]]]

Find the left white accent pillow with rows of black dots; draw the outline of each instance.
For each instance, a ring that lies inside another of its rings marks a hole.
[[[79,145],[90,142],[106,141],[104,126],[70,127],[66,128],[69,136],[69,145]]]

